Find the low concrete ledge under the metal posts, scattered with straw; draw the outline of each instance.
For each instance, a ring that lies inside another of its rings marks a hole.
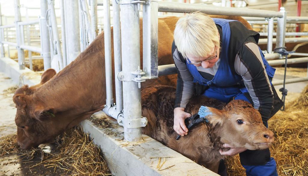
[[[17,83],[21,80],[32,86],[40,82],[39,73],[27,68],[19,70],[18,63],[10,58],[0,58],[0,71]],[[108,135],[110,130],[99,128],[89,120],[81,126],[103,152],[113,175],[218,175],[146,135],[143,135],[144,142],[132,143],[123,141],[122,127],[113,131],[119,135]],[[166,161],[160,170],[156,168],[159,157],[160,165],[164,158]],[[165,169],[169,166],[172,167]]]

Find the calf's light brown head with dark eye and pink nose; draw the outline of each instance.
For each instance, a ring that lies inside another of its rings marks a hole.
[[[274,134],[262,123],[259,111],[243,100],[233,100],[223,110],[209,108],[210,123],[219,125],[222,143],[249,150],[266,149],[274,142]]]

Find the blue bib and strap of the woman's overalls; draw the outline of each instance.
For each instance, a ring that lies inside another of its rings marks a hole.
[[[234,74],[230,68],[229,64],[229,58],[228,58],[228,51],[229,51],[229,42],[230,42],[230,35],[231,30],[229,26],[229,22],[232,22],[234,20],[226,20],[226,19],[220,19],[220,18],[213,18],[215,24],[221,26],[222,28],[222,49],[220,52],[220,64],[218,67],[218,70],[212,80],[206,80],[204,79],[201,74],[198,72],[197,67],[191,64],[186,64],[188,70],[192,74],[194,78],[194,82],[201,84],[201,85],[207,85],[210,87],[210,91],[217,92],[217,95],[222,94],[225,98],[221,98],[220,96],[215,96],[215,93],[209,94],[205,93],[203,95],[216,98],[218,100],[229,102],[232,97],[235,97],[239,94],[243,94],[245,92],[248,93],[247,88],[242,87],[240,85],[244,85],[241,75]],[[275,68],[271,67],[266,59],[264,58],[264,55],[259,48],[263,64],[265,66],[266,73],[270,79],[270,82],[274,76]],[[190,62],[187,60],[187,62]],[[272,84],[272,83],[271,83]],[[244,97],[244,96],[243,96]],[[244,98],[239,98],[241,100],[246,100]],[[252,102],[250,102],[252,103]]]

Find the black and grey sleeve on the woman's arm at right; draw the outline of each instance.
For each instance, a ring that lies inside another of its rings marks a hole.
[[[234,67],[248,89],[254,108],[259,110],[262,118],[267,119],[273,106],[273,91],[255,42],[243,44],[236,55]]]

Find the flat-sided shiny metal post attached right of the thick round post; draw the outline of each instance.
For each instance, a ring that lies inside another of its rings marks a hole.
[[[158,77],[158,2],[143,5],[143,70],[146,77]]]

